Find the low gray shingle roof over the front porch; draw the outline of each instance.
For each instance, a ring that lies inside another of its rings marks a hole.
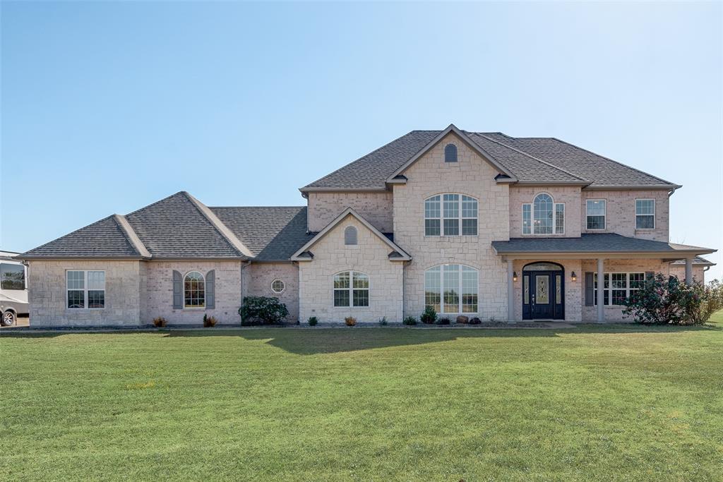
[[[580,238],[511,238],[492,241],[497,254],[521,253],[661,253],[677,254],[690,251],[713,252],[714,249],[665,243],[649,239],[628,238],[615,233],[583,234]]]

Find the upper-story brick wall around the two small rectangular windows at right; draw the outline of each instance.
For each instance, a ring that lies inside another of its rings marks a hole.
[[[587,199],[605,199],[607,207],[606,226],[604,230],[588,231],[587,228]],[[635,200],[655,199],[655,228],[636,229]],[[669,199],[665,190],[642,191],[582,191],[581,199],[581,226],[583,233],[617,233],[623,236],[652,239],[667,242],[668,237]]]

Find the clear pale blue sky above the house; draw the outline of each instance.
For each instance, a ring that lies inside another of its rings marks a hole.
[[[671,240],[723,247],[720,3],[3,1],[1,16],[2,249],[180,190],[301,205],[300,186],[450,122],[683,184]]]

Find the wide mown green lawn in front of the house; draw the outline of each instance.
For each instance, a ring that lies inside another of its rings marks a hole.
[[[0,480],[722,480],[714,327],[0,335]]]

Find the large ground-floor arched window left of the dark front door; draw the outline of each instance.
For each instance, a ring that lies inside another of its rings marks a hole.
[[[424,304],[441,314],[476,313],[478,272],[464,264],[440,264],[424,271]]]

